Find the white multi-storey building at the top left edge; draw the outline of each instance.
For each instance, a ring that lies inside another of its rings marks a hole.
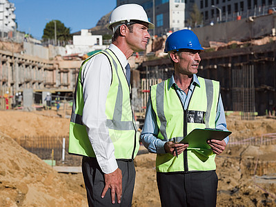
[[[10,3],[8,0],[0,0],[0,31],[2,38],[8,36],[9,32],[16,28],[14,10],[14,3]]]

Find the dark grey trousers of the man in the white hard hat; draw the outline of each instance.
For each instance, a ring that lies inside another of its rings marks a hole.
[[[117,160],[118,167],[122,174],[122,194],[121,204],[117,203],[115,195],[115,204],[112,204],[110,188],[106,196],[101,198],[101,193],[105,186],[104,173],[101,171],[96,158],[83,157],[82,173],[84,183],[86,184],[86,193],[88,205],[91,207],[101,206],[131,206],[132,195],[135,184],[135,166],[133,160]]]

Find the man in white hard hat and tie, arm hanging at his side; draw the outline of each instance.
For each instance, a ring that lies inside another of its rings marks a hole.
[[[133,52],[146,50],[154,25],[137,4],[115,8],[108,29],[112,43],[83,61],[70,120],[69,152],[83,156],[89,206],[131,206],[133,159],[139,150],[130,103]]]

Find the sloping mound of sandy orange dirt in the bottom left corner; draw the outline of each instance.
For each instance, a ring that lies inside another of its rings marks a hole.
[[[0,206],[87,206],[39,157],[0,137]]]

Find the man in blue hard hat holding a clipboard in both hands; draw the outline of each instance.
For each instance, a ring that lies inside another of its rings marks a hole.
[[[150,88],[141,140],[157,153],[162,206],[216,206],[215,156],[224,151],[229,138],[210,139],[197,148],[179,143],[195,128],[227,130],[219,82],[196,75],[201,50],[193,31],[170,34],[164,52],[175,72]]]

